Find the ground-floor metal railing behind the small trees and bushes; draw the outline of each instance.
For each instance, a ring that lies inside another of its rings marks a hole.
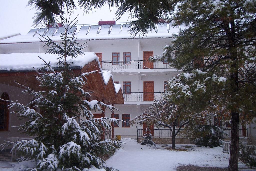
[[[176,131],[178,130],[178,128],[176,128]],[[186,132],[182,132],[182,130],[184,130],[184,128],[181,128],[178,134],[177,134],[177,138],[191,138],[191,131],[187,129]],[[230,138],[231,135],[231,128],[224,128],[225,132],[227,133],[225,135],[225,138]],[[151,130],[152,131],[152,130]],[[240,137],[248,137],[248,128],[239,128],[239,136]],[[143,137],[143,128],[138,128],[137,129],[137,137]],[[169,128],[154,128],[154,137],[172,137],[172,132]]]

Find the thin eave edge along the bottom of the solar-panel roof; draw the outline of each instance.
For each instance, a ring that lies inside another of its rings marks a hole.
[[[173,36],[166,36],[166,37],[143,37],[143,38],[136,38],[136,37],[131,37],[131,38],[119,38],[119,39],[115,39],[115,38],[96,38],[96,39],[77,39],[77,41],[87,41],[87,40],[125,40],[125,39],[166,39],[166,38],[173,38]],[[55,40],[55,42],[60,42],[61,40]],[[38,41],[28,41],[28,42],[7,42],[7,43],[1,43],[0,44],[16,44],[16,43],[37,43],[37,42],[42,42],[41,40]]]

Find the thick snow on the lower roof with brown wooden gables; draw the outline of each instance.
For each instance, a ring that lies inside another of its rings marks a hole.
[[[48,53],[7,53],[0,54],[0,72],[11,72],[11,71],[33,71],[34,68],[42,68],[44,67],[44,62],[38,56],[43,58],[47,63],[50,61],[51,67],[58,67],[57,60],[58,56],[54,54]],[[74,65],[72,67],[81,67],[83,68],[89,62],[92,61],[98,62],[99,72],[101,72],[105,85],[109,83],[109,80],[113,80],[113,75],[111,71],[102,70],[99,57],[96,56],[94,52],[84,52],[84,55],[79,55],[76,58],[71,59],[71,57],[67,60],[68,62],[73,62]],[[114,82],[114,81],[113,81]],[[118,94],[120,88],[115,86],[115,92]]]

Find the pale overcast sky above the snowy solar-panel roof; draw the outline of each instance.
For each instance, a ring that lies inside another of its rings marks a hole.
[[[27,6],[28,0],[0,0],[0,4],[0,38],[15,33],[27,34],[33,26],[36,13],[35,9]],[[115,12],[116,8],[111,12],[105,7],[83,15],[83,9],[78,8],[72,17],[79,14],[78,24],[94,24],[100,19],[113,20]],[[126,22],[128,16],[126,14],[116,22]]]

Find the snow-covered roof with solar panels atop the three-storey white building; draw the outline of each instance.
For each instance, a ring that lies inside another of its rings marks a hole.
[[[97,39],[131,39],[134,38],[129,32],[131,27],[126,24],[117,25],[88,25],[88,26],[76,26],[77,40],[97,40]],[[79,30],[79,29],[80,30]],[[157,32],[150,30],[147,35],[136,35],[135,38],[170,38],[173,34],[178,33],[180,28],[172,27],[171,24],[161,23],[157,26]],[[183,28],[183,27],[182,27]],[[70,31],[70,35],[74,32],[74,29]],[[31,29],[27,35],[17,35],[8,39],[1,40],[0,43],[23,43],[23,42],[40,42],[41,36],[37,34],[49,36],[53,41],[60,41],[60,33],[64,32],[63,28],[50,28],[48,31],[46,28]]]

